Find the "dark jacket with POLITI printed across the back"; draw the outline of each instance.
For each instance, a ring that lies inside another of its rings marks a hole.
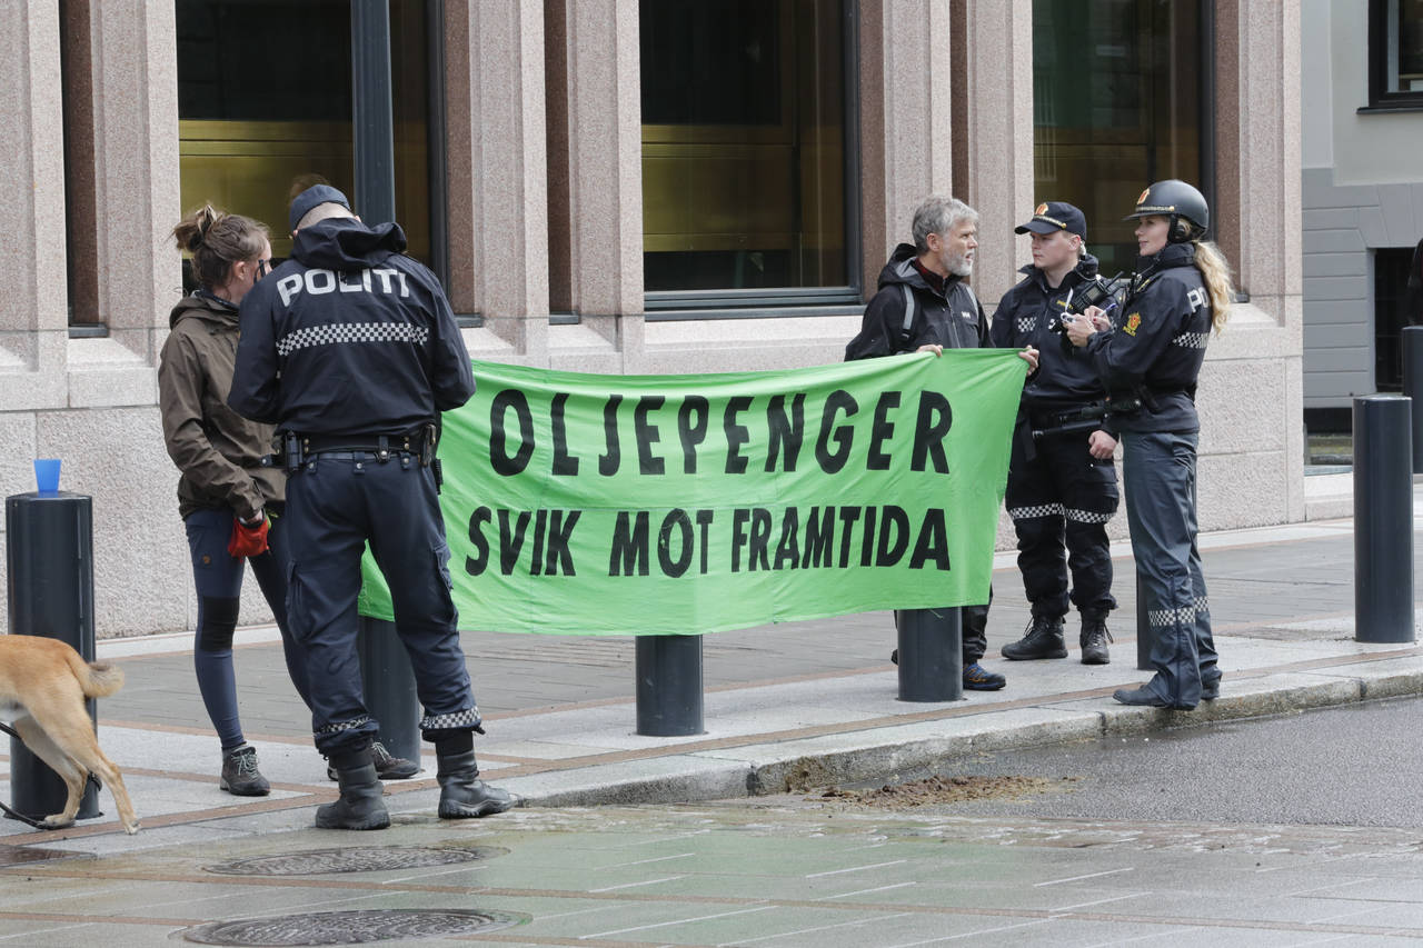
[[[450,302],[396,223],[330,218],[242,299],[231,404],[297,434],[404,434],[474,394]]]

